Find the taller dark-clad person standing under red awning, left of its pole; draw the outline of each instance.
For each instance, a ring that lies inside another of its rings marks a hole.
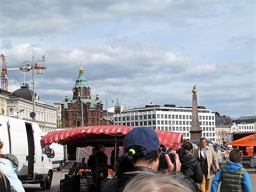
[[[108,177],[108,157],[106,156],[105,146],[100,145],[99,151],[96,152],[96,182],[94,185],[94,191],[100,192],[101,182]]]

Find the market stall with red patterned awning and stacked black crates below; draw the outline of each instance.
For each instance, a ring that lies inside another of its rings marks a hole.
[[[99,144],[104,144],[106,147],[115,147],[116,150],[117,146],[123,145],[124,137],[130,130],[132,130],[132,128],[133,127],[130,126],[109,125],[59,130],[46,134],[41,139],[41,146],[44,148],[45,146],[50,146],[52,143],[58,143],[61,145],[68,144],[75,147],[97,146]],[[165,146],[166,148],[172,148],[173,150],[178,150],[178,148],[180,148],[183,141],[182,133],[159,130],[155,130],[155,132],[158,134],[160,145]],[[84,164],[81,165],[84,166]],[[81,170],[83,172],[80,175],[79,173]],[[90,183],[89,178],[90,171],[86,170],[86,166],[80,167],[80,164],[74,164],[72,168],[70,168],[70,173],[60,182],[60,188],[63,189],[61,191],[65,192],[70,190],[68,187],[73,184],[79,184],[80,187],[82,187],[80,188],[80,191],[87,191],[87,186]]]

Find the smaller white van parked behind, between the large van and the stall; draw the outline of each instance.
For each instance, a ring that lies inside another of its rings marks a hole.
[[[66,157],[66,145],[60,145],[58,143],[52,143],[50,146],[54,150],[54,158],[52,158],[52,167],[57,168],[57,171],[61,171],[62,167],[65,165]]]

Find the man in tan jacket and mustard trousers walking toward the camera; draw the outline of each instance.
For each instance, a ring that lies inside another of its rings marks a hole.
[[[198,147],[194,152],[194,157],[199,159],[200,166],[204,174],[204,180],[200,183],[200,189],[203,192],[208,192],[210,178],[214,177],[213,170],[211,169],[212,162],[217,169],[216,171],[220,169],[214,149],[206,144],[206,138],[202,137],[200,139],[200,147]]]

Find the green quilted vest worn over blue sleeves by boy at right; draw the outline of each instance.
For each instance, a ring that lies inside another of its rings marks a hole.
[[[228,172],[226,167],[221,168],[221,192],[243,192],[243,180],[245,168],[240,168],[234,173]]]

